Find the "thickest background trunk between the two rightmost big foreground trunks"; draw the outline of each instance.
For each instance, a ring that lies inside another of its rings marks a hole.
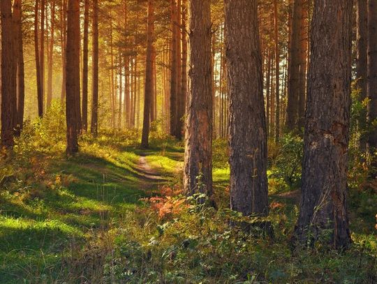
[[[300,97],[300,33],[302,17],[302,1],[294,0],[292,29],[290,31],[290,50],[288,67],[288,105],[286,128],[297,129],[298,108]]]

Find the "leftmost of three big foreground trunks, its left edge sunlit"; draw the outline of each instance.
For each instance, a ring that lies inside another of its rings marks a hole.
[[[210,0],[188,2],[189,63],[184,155],[186,194],[212,189],[212,66]]]

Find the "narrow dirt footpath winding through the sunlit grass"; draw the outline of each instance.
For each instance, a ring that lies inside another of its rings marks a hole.
[[[140,188],[143,190],[154,190],[167,182],[168,179],[161,172],[158,172],[158,170],[149,165],[146,156],[146,154],[140,154],[135,169],[140,174]]]

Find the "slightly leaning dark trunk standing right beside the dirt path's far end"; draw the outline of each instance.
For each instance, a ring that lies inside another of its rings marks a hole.
[[[149,123],[151,110],[151,96],[153,95],[153,41],[154,41],[154,3],[148,0],[148,25],[147,25],[147,65],[145,68],[145,96],[144,117],[142,121],[142,147],[149,147]]]

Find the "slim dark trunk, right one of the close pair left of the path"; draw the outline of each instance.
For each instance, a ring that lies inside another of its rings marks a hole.
[[[92,23],[92,100],[91,100],[91,127],[92,135],[98,135],[98,0],[93,1],[93,23]]]

